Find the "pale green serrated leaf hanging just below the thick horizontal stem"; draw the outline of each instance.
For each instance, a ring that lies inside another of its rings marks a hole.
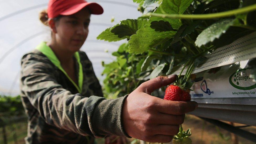
[[[195,44],[200,47],[207,44],[208,42],[214,41],[216,38],[220,38],[223,33],[226,33],[228,28],[233,25],[234,19],[220,20],[208,28],[202,31],[196,38]]]

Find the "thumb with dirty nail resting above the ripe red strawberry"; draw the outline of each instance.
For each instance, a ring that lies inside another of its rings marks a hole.
[[[173,82],[176,81],[177,75],[171,75],[171,76],[158,76],[156,78],[153,78],[149,81],[146,81],[142,83],[139,87],[138,90],[151,94],[154,90],[159,89],[163,86],[167,86]]]

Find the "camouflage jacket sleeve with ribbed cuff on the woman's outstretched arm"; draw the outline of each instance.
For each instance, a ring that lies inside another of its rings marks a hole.
[[[106,100],[71,94],[57,83],[51,63],[39,61],[38,57],[33,54],[23,56],[21,91],[47,124],[96,138],[106,135],[129,137],[121,121],[122,105],[127,95]]]

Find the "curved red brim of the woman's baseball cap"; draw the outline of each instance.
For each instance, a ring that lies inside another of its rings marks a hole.
[[[85,7],[90,9],[91,14],[103,14],[104,12],[102,6],[100,6],[98,3],[80,3],[66,9],[65,11],[61,12],[60,15],[71,15],[77,13],[79,10]]]

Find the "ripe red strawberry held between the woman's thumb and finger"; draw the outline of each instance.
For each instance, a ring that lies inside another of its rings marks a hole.
[[[185,90],[181,89],[179,86],[170,85],[165,90],[164,95],[165,100],[172,100],[172,101],[190,101],[190,94]]]

